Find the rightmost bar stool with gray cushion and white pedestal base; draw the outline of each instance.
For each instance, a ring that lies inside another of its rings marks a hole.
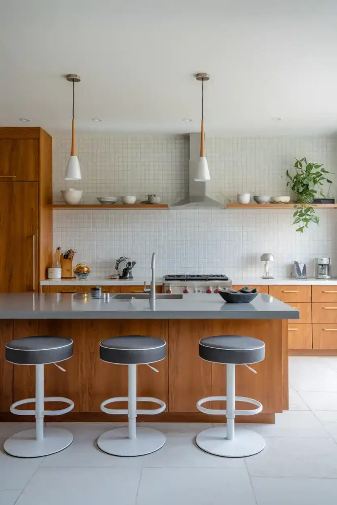
[[[199,342],[199,356],[212,363],[226,365],[226,396],[208,396],[197,402],[197,408],[205,414],[221,415],[227,418],[226,428],[204,430],[196,438],[197,445],[216,456],[243,458],[261,452],[265,441],[258,433],[245,428],[237,428],[234,433],[235,416],[254,416],[262,411],[262,403],[245,396],[235,396],[235,365],[259,363],[265,357],[265,344],[256,338],[223,335],[203,338]],[[206,401],[226,400],[226,410],[206,409]],[[257,406],[253,410],[236,410],[235,401],[247,401]]]

